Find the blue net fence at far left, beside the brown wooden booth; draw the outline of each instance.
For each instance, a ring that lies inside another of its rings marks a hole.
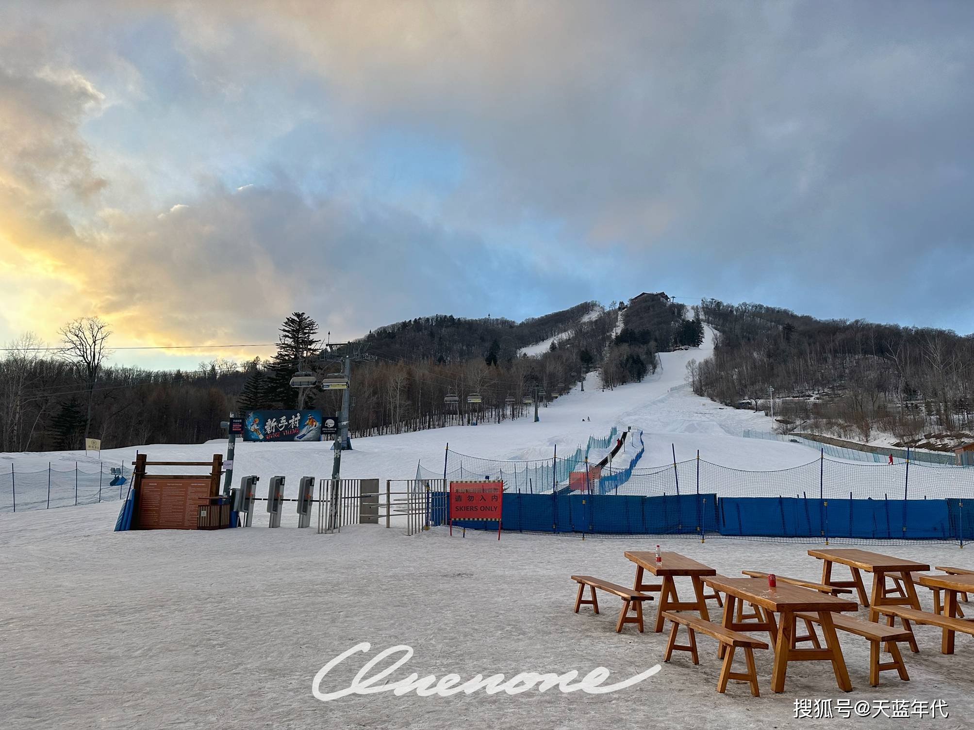
[[[58,464],[60,466],[60,464]],[[113,469],[118,473],[113,473]],[[124,499],[131,468],[107,461],[81,461],[73,468],[0,471],[0,512],[73,507]]]

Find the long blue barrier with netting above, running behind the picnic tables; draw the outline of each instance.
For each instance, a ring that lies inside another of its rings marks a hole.
[[[481,465],[490,471],[487,461]],[[773,471],[697,457],[646,468],[633,463],[618,475],[626,477],[618,485],[613,473],[581,482],[581,492],[558,485],[524,493],[506,483],[503,528],[815,542],[974,540],[974,469],[837,461],[820,451],[806,464]],[[432,525],[447,521],[446,493],[431,499],[430,518]],[[497,529],[496,523],[454,525]]]

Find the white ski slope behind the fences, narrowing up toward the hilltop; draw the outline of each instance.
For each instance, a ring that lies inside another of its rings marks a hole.
[[[770,420],[763,414],[725,408],[693,394],[686,383],[687,363],[703,359],[713,350],[713,333],[708,328],[701,347],[659,354],[659,368],[642,383],[629,383],[614,389],[603,389],[597,374],[589,374],[585,390],[576,386],[565,396],[540,409],[541,422],[530,415],[502,423],[476,426],[450,426],[426,431],[353,439],[353,451],[342,455],[341,473],[345,478],[409,479],[415,476],[417,464],[433,471],[442,467],[446,444],[451,451],[470,456],[496,459],[548,458],[557,446],[566,454],[586,443],[588,436],[604,436],[612,426],[623,430],[643,430],[646,455],[640,467],[672,462],[675,449],[678,460],[701,458],[737,469],[781,469],[807,463],[815,458],[797,444],[744,439],[744,428],[769,429]],[[627,446],[631,454],[632,448]],[[207,461],[214,454],[226,453],[226,441],[206,444],[150,444],[101,452],[106,463],[127,465],[137,452],[150,460]],[[262,483],[271,476],[287,478],[286,493],[295,493],[302,476],[330,477],[331,442],[261,444],[238,442],[234,481],[246,474],[256,474]],[[75,461],[97,462],[94,453],[49,452],[3,454],[0,459],[13,460],[18,471],[43,470],[52,462],[54,468],[73,468]],[[617,465],[624,464],[617,459]],[[6,466],[9,468],[9,466]],[[170,473],[177,469],[166,469]]]

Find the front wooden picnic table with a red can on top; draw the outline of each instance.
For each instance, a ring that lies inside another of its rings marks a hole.
[[[731,631],[767,631],[774,647],[774,666],[771,670],[771,690],[783,692],[788,662],[830,661],[839,688],[844,692],[852,689],[848,671],[845,669],[843,650],[836,637],[836,627],[832,614],[836,611],[856,611],[859,606],[854,601],[836,598],[813,591],[810,588],[779,583],[768,587],[766,578],[729,578],[714,575],[703,578],[703,582],[714,590],[727,594],[724,603],[724,628]],[[734,603],[746,601],[761,609],[764,621],[735,621]],[[814,613],[825,636],[825,648],[796,648],[795,614],[799,611]],[[776,620],[774,614],[779,614]],[[723,654],[723,646],[722,654]]]

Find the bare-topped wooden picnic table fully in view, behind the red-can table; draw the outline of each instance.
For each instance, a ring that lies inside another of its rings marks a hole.
[[[919,609],[917,589],[914,587],[913,578],[910,573],[915,570],[929,570],[930,566],[925,563],[918,563],[904,558],[893,558],[888,555],[881,555],[880,553],[871,553],[868,550],[859,550],[858,548],[809,550],[808,555],[823,561],[822,583],[824,585],[856,589],[859,602],[869,608],[870,621],[877,620],[879,616],[877,607],[880,605],[908,605],[912,608]],[[834,580],[832,577],[832,566],[835,563],[848,566],[852,573],[852,580]],[[873,573],[872,602],[866,597],[866,587],[862,583],[860,570]],[[898,580],[902,581],[903,593],[901,595],[893,596],[887,594],[886,573],[893,573]]]

